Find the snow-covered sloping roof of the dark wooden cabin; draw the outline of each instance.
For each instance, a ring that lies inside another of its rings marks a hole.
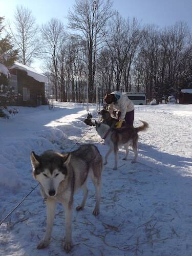
[[[19,63],[15,61],[14,65],[11,67],[11,69],[19,69],[19,70],[24,70],[27,72],[28,76],[33,77],[35,80],[39,82],[47,82],[48,78],[47,76],[35,71],[34,69],[23,65],[22,63]]]

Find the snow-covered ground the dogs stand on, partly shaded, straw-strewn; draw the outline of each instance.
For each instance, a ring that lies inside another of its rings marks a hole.
[[[91,106],[93,119],[98,119]],[[97,143],[100,137],[82,120],[81,104],[54,103],[19,108],[19,114],[0,119],[0,220],[37,183],[32,177],[30,152],[70,151],[76,142]],[[83,211],[73,214],[74,248],[70,255],[191,255],[192,252],[192,105],[136,106],[134,126],[145,120],[140,133],[138,161],[123,161],[114,171],[114,156],[103,169],[98,217],[92,215],[94,187]],[[104,156],[107,147],[97,144]],[[77,147],[73,148],[73,150]],[[74,207],[82,199],[75,195]],[[46,207],[39,188],[0,227],[0,255],[65,255],[64,212],[58,205],[48,248],[37,250],[46,224]]]

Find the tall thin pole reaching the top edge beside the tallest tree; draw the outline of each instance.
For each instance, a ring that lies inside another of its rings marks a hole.
[[[96,110],[98,110],[98,83],[97,83],[97,21],[98,21],[98,1],[93,2],[95,11],[95,87],[96,87]]]

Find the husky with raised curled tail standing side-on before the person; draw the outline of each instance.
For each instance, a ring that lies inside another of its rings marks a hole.
[[[115,154],[115,165],[114,170],[117,169],[117,158],[118,158],[118,151],[121,146],[125,147],[126,155],[123,160],[127,159],[127,155],[129,153],[129,146],[131,145],[135,154],[134,160],[132,163],[136,162],[137,159],[137,143],[138,143],[138,132],[144,131],[148,127],[148,123],[141,121],[143,125],[139,127],[122,127],[118,129],[110,128],[109,125],[104,123],[97,123],[95,121],[96,131],[100,135],[106,145],[108,145],[109,151],[105,155],[104,165],[108,163],[109,155],[114,152]]]

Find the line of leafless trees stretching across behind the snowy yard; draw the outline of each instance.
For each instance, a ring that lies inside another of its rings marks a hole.
[[[90,102],[96,86],[99,98],[117,90],[145,92],[157,101],[192,87],[192,36],[186,23],[143,26],[113,11],[110,0],[94,2],[76,0],[67,28],[56,18],[37,27],[28,9],[15,11],[7,32],[24,65],[44,59],[49,97],[82,102],[87,71]]]

